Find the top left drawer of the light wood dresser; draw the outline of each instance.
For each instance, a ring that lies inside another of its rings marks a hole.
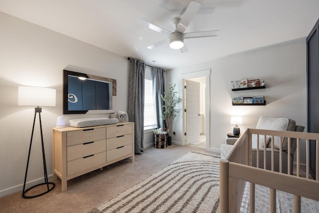
[[[67,146],[103,140],[106,137],[105,127],[72,131],[66,134]]]

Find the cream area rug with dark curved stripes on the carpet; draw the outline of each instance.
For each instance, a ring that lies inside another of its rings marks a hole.
[[[187,153],[89,213],[219,213],[219,160]]]

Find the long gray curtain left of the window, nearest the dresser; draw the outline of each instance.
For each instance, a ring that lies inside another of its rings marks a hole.
[[[144,149],[144,81],[145,66],[143,61],[130,60],[128,115],[135,123],[135,154],[142,154]]]

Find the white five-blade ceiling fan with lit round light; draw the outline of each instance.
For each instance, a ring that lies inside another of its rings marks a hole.
[[[173,32],[167,29],[164,29],[158,25],[155,25],[153,23],[150,23],[147,20],[141,19],[141,23],[145,25],[146,27],[169,36],[168,38],[165,38],[164,40],[161,40],[155,44],[152,44],[148,46],[147,48],[153,49],[169,41],[170,48],[180,49],[181,52],[187,52],[188,49],[184,45],[184,39],[217,36],[217,33],[219,32],[219,30],[184,33],[188,24],[192,20],[193,16],[196,14],[198,9],[200,8],[200,5],[201,5],[200,2],[190,1],[185,12],[182,14],[182,17],[173,18],[172,22],[175,26],[175,30]]]

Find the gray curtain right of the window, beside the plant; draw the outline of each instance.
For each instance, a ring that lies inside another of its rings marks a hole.
[[[164,95],[165,93],[165,70],[159,67],[152,67],[152,82],[157,128],[163,128],[163,120],[160,118],[160,115],[163,113],[163,102],[160,95]]]

